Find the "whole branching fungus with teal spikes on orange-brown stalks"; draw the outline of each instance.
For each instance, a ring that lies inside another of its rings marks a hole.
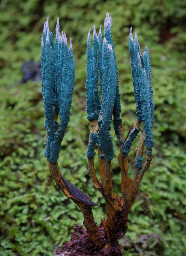
[[[107,13],[104,21],[103,39],[101,26],[98,36],[94,26],[93,47],[91,47],[89,30],[86,53],[86,96],[88,120],[90,121],[87,157],[89,173],[94,188],[98,189],[105,199],[106,220],[101,219],[100,226],[101,229],[103,227],[105,236],[100,234],[100,230],[94,222],[92,214],[92,206],[97,206],[97,203],[91,202],[91,198],[87,194],[67,181],[60,173],[58,167],[57,159],[61,142],[70,119],[75,69],[71,39],[68,49],[66,35],[59,31],[59,19],[57,20],[54,46],[53,35],[49,31],[48,19],[44,23],[41,52],[42,93],[47,133],[46,157],[48,159],[49,170],[64,195],[73,200],[83,212],[84,223],[90,241],[97,248],[104,248],[104,250],[106,248],[108,249],[109,246],[112,247],[112,244],[115,246],[118,238],[122,237],[127,231],[128,213],[139,191],[142,177],[150,167],[152,147],[154,145],[152,136],[154,102],[149,50],[146,47],[146,52],[143,53],[143,56],[141,55],[137,35],[135,34],[135,40],[133,41],[132,29],[130,29],[129,52],[131,54],[137,118],[124,139],[123,125],[120,118],[121,106],[118,68],[111,27],[111,16]],[[98,75],[100,75],[101,97],[98,90]],[[59,124],[57,122],[58,115],[60,115]],[[121,169],[122,198],[113,193],[111,160],[114,152],[110,135],[112,117],[115,133],[120,145],[118,160]],[[142,121],[143,130],[140,129]],[[132,179],[128,174],[128,153],[131,150],[133,140],[140,131],[141,134],[136,147],[134,175]],[[94,169],[94,149],[96,143],[98,144],[101,181],[98,180]],[[143,163],[144,146],[147,147],[147,152],[146,161]],[[108,250],[107,254],[110,255],[110,252]]]

